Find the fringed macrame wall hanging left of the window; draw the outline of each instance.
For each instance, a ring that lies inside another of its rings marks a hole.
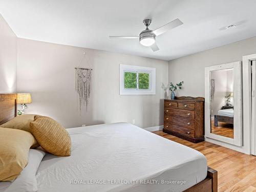
[[[83,52],[83,55],[80,60],[80,65],[86,56],[86,52]],[[78,109],[81,113],[82,106],[86,106],[88,109],[88,102],[91,94],[91,78],[92,78],[92,69],[91,68],[82,68],[76,67],[76,92],[78,94]]]

